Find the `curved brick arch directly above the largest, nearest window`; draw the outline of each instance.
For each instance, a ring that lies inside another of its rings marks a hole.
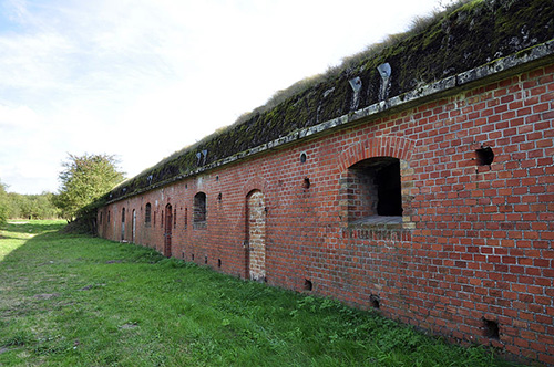
[[[343,171],[353,164],[373,157],[394,157],[410,160],[416,141],[400,136],[379,136],[348,147],[339,156],[339,167]]]

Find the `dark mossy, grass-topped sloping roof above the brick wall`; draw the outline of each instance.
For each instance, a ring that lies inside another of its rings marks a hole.
[[[380,64],[389,63],[392,70],[390,98],[544,43],[553,38],[553,30],[552,0],[462,0],[443,12],[416,19],[410,31],[390,35],[325,74],[278,92],[235,124],[120,185],[109,200],[192,175],[201,166],[378,103]],[[362,84],[355,103],[349,85],[353,77]],[[202,151],[207,155],[198,159]]]

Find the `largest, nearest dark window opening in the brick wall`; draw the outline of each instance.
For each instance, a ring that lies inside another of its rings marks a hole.
[[[349,221],[402,216],[400,160],[373,157],[348,168]]]

